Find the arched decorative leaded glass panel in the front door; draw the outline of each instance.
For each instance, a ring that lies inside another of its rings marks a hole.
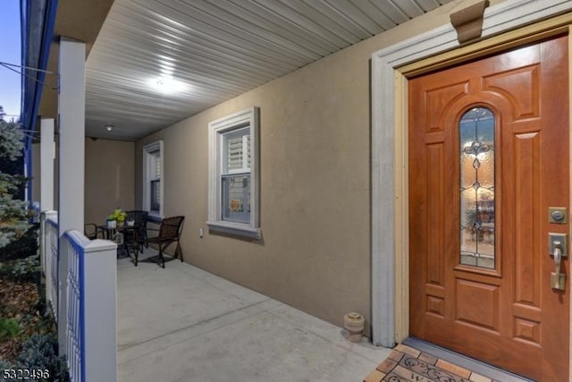
[[[494,115],[475,107],[461,117],[460,263],[494,268]]]

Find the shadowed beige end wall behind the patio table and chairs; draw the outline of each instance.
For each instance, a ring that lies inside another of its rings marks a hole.
[[[85,142],[85,221],[103,224],[114,208],[133,209],[135,143],[91,138]]]

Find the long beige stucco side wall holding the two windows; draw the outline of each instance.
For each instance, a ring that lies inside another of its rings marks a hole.
[[[370,325],[371,55],[473,3],[447,4],[139,140],[135,184],[143,145],[164,140],[164,213],[186,216],[184,259],[336,325],[353,310]],[[260,107],[260,242],[205,224],[208,123],[250,106]]]

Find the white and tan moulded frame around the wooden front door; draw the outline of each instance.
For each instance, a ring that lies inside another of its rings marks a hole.
[[[552,0],[551,4],[538,0],[506,0],[485,10],[483,38],[475,43],[459,46],[456,31],[447,24],[372,55],[371,255],[374,344],[392,347],[408,336],[407,77],[563,31],[569,30],[572,35],[570,10],[571,0]],[[572,47],[571,40],[568,39],[568,47]],[[572,59],[568,60],[568,65],[568,73],[572,73]],[[569,83],[572,94],[572,81]],[[570,109],[572,114],[572,107]],[[570,137],[572,140],[572,134]],[[387,222],[393,222],[393,225]]]

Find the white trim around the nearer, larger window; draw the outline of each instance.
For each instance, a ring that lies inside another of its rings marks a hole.
[[[249,107],[233,115],[227,115],[208,123],[208,220],[209,229],[251,239],[261,239],[260,229],[260,174],[258,107]],[[250,127],[250,223],[223,220],[223,133]]]

